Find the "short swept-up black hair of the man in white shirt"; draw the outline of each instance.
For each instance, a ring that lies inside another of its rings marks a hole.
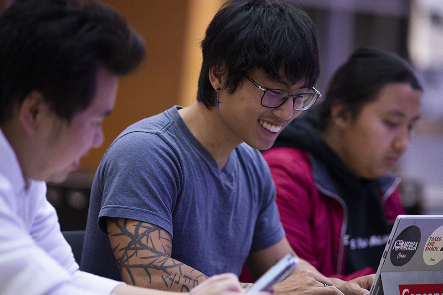
[[[33,90],[70,121],[95,96],[99,67],[122,75],[145,56],[125,18],[90,0],[16,0],[0,14],[0,123]]]

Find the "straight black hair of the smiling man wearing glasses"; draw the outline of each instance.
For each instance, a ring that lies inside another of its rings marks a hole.
[[[312,20],[293,1],[230,0],[209,24],[201,43],[203,63],[197,100],[215,105],[209,70],[224,66],[223,87],[234,93],[244,74],[259,68],[273,80],[305,79],[313,87],[320,72],[318,42]]]

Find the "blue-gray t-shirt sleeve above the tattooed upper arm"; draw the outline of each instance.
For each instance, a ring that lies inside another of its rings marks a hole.
[[[118,138],[100,164],[103,217],[155,224],[172,236],[172,212],[181,189],[181,167],[174,150],[158,135],[132,132]]]

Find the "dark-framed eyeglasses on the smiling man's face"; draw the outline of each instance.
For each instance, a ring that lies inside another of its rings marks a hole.
[[[292,95],[285,90],[263,88],[248,75],[245,74],[244,76],[246,79],[249,80],[249,82],[263,91],[263,96],[261,97],[261,105],[267,108],[278,108],[283,105],[289,97],[292,97],[294,101],[294,110],[306,111],[307,109],[312,107],[318,97],[321,96],[320,92],[318,92],[318,90],[314,87],[312,88],[314,90],[314,93],[301,93]]]

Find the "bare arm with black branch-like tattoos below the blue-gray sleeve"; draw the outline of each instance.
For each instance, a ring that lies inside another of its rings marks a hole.
[[[162,228],[136,220],[107,218],[108,236],[127,283],[188,292],[208,277],[170,257],[172,239]]]

